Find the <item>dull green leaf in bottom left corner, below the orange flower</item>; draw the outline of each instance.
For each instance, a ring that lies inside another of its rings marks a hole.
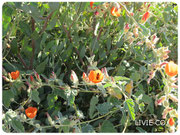
[[[16,120],[16,118],[12,119],[11,125],[17,132],[25,132],[22,123],[19,120]]]

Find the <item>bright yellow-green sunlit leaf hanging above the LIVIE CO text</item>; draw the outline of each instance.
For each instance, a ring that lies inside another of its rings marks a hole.
[[[125,109],[128,110],[129,115],[131,116],[132,120],[135,120],[135,110],[134,110],[134,102],[132,99],[127,99],[125,101]]]

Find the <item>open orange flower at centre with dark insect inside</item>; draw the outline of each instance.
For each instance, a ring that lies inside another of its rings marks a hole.
[[[100,70],[91,70],[89,73],[89,81],[93,83],[99,83],[103,80],[103,74]]]

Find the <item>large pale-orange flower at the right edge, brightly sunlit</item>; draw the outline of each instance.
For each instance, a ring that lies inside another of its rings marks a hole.
[[[170,61],[165,66],[165,72],[167,75],[173,77],[178,74],[178,65],[173,61]]]

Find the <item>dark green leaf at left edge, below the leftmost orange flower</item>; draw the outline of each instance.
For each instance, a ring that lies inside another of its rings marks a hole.
[[[8,108],[11,101],[14,100],[14,94],[11,90],[3,90],[3,104]]]

